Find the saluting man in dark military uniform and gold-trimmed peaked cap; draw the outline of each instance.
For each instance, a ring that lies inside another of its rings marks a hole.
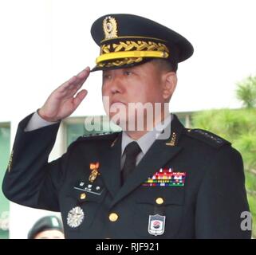
[[[60,121],[87,94],[78,92],[86,68],[18,125],[6,197],[61,211],[66,238],[250,238],[241,227],[249,211],[241,155],[225,139],[184,128],[164,111],[191,43],[130,14],[98,18],[91,33],[100,46],[92,71],[103,71],[104,108],[123,131],[82,136],[48,163]],[[130,113],[136,103],[157,103],[160,111]],[[151,116],[149,128],[138,128],[138,120]]]

